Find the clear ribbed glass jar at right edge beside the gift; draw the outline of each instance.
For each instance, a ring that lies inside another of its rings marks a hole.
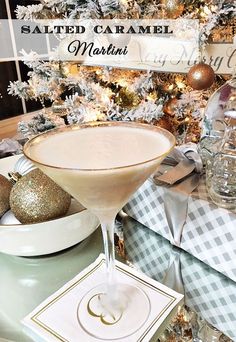
[[[225,106],[223,139],[206,163],[206,184],[217,205],[236,211],[236,90]]]

